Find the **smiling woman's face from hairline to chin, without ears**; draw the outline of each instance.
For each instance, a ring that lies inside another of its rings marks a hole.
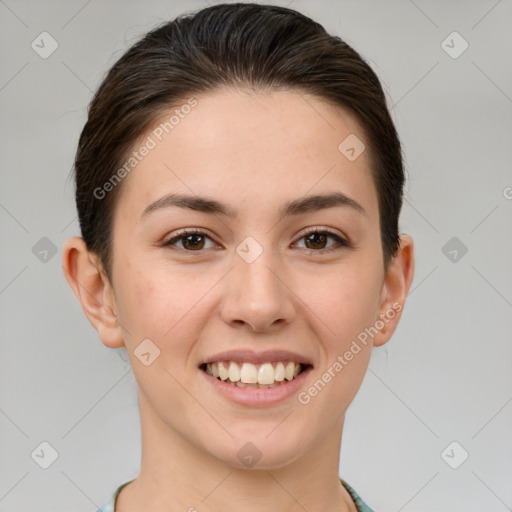
[[[251,442],[262,467],[278,467],[341,428],[372,342],[384,342],[396,320],[356,353],[354,340],[394,297],[367,151],[351,161],[338,149],[365,136],[347,111],[293,91],[196,99],[161,141],[151,131],[141,138],[156,147],[123,182],[113,309],[140,399],[165,428],[234,466]],[[162,199],[170,194],[196,202]],[[226,351],[243,354],[219,356]],[[201,368],[266,351],[291,353],[264,355],[273,366],[296,359],[307,371],[258,391],[228,390]]]

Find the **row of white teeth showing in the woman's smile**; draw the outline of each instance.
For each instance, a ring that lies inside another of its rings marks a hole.
[[[284,380],[293,380],[301,370],[302,365],[293,361],[279,361],[275,368],[270,362],[260,366],[243,363],[241,367],[234,361],[206,365],[206,372],[210,375],[244,388],[275,387]]]

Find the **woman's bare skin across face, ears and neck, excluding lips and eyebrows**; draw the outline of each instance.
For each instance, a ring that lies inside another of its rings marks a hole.
[[[365,141],[348,111],[294,91],[221,89],[196,98],[122,183],[112,283],[81,238],[63,251],[85,314],[107,347],[126,346],[139,386],[141,472],[120,492],[116,511],[354,512],[338,477],[345,411],[372,346],[389,340],[400,311],[307,405],[296,395],[273,406],[236,405],[206,385],[198,366],[233,348],[289,349],[313,363],[307,389],[379,315],[403,306],[412,240],[401,236],[385,269],[368,152],[349,161],[338,151],[349,134]],[[284,203],[333,191],[364,214],[336,206],[279,218]],[[171,192],[222,201],[238,217],[169,207],[141,220]],[[350,247],[325,252],[337,246],[330,237],[308,243],[315,227]],[[162,246],[182,228],[209,238]],[[263,249],[252,263],[236,252],[247,236]],[[146,338],[160,349],[149,366],[134,355]],[[262,454],[251,469],[237,457],[247,442]]]

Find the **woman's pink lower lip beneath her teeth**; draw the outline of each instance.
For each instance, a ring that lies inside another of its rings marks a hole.
[[[284,384],[266,389],[239,388],[236,385],[226,384],[225,381],[213,377],[204,370],[200,369],[199,371],[206,377],[206,381],[214,387],[215,391],[232,402],[247,407],[262,407],[277,404],[297,393],[312,369],[313,367],[309,366],[294,379],[283,381]]]

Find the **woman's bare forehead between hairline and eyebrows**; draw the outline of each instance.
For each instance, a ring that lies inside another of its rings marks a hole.
[[[222,195],[239,206],[341,188],[370,212],[375,206],[367,151],[356,159],[343,152],[344,141],[357,151],[366,144],[348,109],[295,90],[228,88],[181,105],[194,106],[173,106],[134,144],[151,149],[124,179],[123,215],[173,191]]]

